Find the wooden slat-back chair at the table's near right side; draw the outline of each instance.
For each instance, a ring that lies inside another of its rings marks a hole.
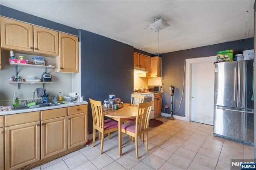
[[[132,121],[122,125],[122,132],[135,138],[136,158],[138,159],[138,136],[146,134],[146,151],[148,152],[148,129],[151,107],[154,101],[138,104],[136,122]],[[144,142],[144,135],[142,138]]]

